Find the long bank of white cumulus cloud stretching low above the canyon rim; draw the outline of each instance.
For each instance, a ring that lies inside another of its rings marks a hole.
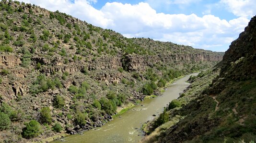
[[[214,15],[198,17],[196,14],[157,13],[145,2],[135,5],[107,2],[101,10],[97,10],[91,5],[96,0],[23,1],[52,11],[65,12],[93,25],[120,32],[129,38],[149,37],[213,51],[227,50],[230,42],[238,37],[249,21],[244,17],[227,21]],[[182,1],[192,0],[180,0]]]

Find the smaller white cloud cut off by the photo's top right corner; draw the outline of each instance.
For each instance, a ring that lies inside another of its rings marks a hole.
[[[253,17],[256,15],[256,0],[221,0],[235,16]]]

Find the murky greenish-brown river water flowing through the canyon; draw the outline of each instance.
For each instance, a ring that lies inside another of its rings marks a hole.
[[[69,135],[62,141],[57,140],[52,143],[138,143],[144,135],[141,130],[142,124],[155,118],[153,114],[158,116],[163,112],[163,107],[179,97],[179,93],[189,85],[186,81],[190,75],[170,84],[163,92],[163,96],[145,99],[102,127],[91,129],[83,134]]]

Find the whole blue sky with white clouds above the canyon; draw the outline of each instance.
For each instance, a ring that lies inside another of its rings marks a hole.
[[[256,15],[256,0],[19,0],[123,36],[226,51]]]

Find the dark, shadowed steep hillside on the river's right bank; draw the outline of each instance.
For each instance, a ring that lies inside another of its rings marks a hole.
[[[255,79],[256,16],[219,64],[190,77],[180,98],[144,125],[142,143],[255,143]]]

